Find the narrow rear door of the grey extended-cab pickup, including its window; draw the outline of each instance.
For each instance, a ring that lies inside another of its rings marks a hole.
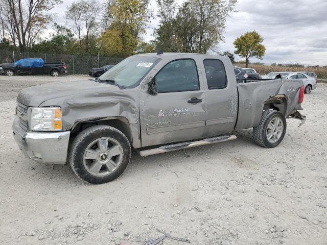
[[[221,60],[222,59],[222,60]],[[231,132],[236,124],[238,95],[232,66],[223,58],[203,59],[202,76],[206,81],[205,136],[216,136]]]

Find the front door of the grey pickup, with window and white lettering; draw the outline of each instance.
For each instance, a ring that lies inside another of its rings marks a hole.
[[[179,59],[155,76],[157,95],[141,92],[142,146],[201,138],[205,129],[205,94],[196,61]]]

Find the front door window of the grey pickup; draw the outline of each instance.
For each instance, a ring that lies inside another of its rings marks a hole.
[[[174,60],[155,76],[158,93],[200,90],[199,76],[192,59]]]

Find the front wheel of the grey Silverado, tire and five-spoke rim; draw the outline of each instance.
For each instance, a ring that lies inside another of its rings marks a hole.
[[[106,125],[92,126],[76,136],[68,158],[81,180],[102,184],[123,173],[131,158],[131,146],[118,129]]]

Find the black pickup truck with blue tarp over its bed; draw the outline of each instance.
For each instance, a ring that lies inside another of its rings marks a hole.
[[[67,73],[63,62],[45,63],[41,58],[20,59],[14,63],[0,64],[0,74],[13,75],[51,75],[58,77]]]

